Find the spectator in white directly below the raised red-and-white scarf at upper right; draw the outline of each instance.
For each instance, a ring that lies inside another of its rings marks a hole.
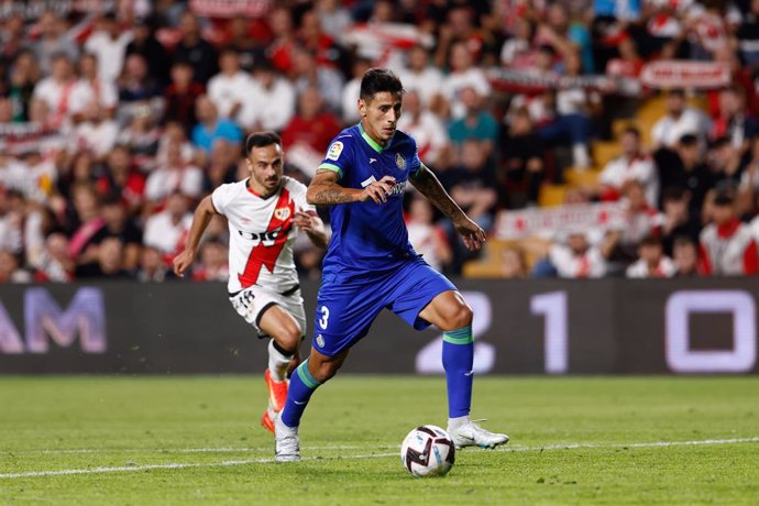
[[[667,95],[667,116],[659,119],[651,129],[653,150],[675,148],[686,134],[694,135],[703,144],[711,131],[710,121],[704,114],[685,102],[685,92],[673,89]]]

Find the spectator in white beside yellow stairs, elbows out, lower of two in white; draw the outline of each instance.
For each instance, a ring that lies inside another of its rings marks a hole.
[[[625,129],[619,145],[622,155],[608,162],[598,177],[601,199],[617,200],[627,182],[638,180],[644,185],[649,206],[658,206],[659,175],[653,158],[641,148],[640,131],[635,127]]]

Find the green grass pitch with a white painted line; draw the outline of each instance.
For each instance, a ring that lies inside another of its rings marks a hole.
[[[336,377],[299,463],[272,462],[264,404],[258,376],[0,377],[0,503],[759,504],[757,377],[479,377],[512,442],[425,480],[398,447],[444,427],[442,377]]]

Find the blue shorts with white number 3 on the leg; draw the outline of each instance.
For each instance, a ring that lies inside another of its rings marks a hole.
[[[455,289],[421,257],[380,274],[324,274],[317,298],[311,346],[327,356],[337,355],[366,336],[384,308],[416,330],[424,330],[430,323],[419,318],[419,312],[438,294]]]

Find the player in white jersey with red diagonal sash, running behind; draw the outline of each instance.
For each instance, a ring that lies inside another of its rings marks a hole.
[[[306,186],[283,176],[283,150],[274,132],[251,134],[245,141],[250,177],[219,186],[195,211],[187,246],[174,258],[182,276],[195,262],[200,238],[215,215],[229,223],[229,299],[238,314],[252,324],[258,338],[268,341],[268,408],[261,425],[274,432],[274,416],[287,397],[287,371],[299,361],[306,332],[306,312],[293,260],[297,230],[314,244],[326,248],[327,233]]]

